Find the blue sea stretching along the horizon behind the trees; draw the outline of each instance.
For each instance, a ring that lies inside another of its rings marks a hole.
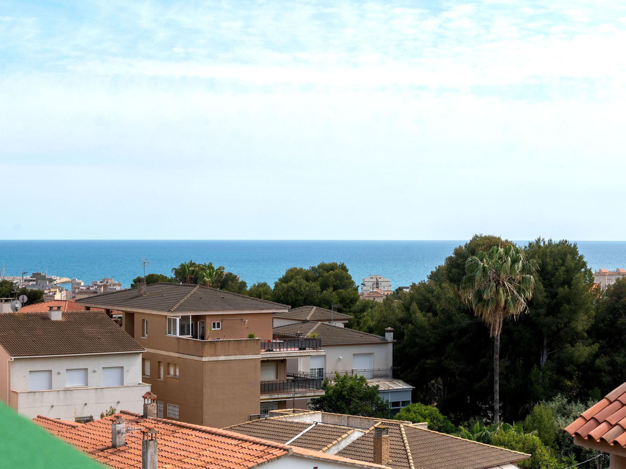
[[[48,272],[85,283],[113,277],[124,287],[147,273],[170,275],[183,261],[212,261],[240,275],[248,285],[274,285],[287,268],[324,261],[346,263],[357,284],[384,275],[393,288],[424,280],[456,246],[466,241],[18,241],[0,240],[0,266],[5,275]],[[527,241],[516,241],[523,246]],[[578,241],[592,269],[626,267],[626,241]]]

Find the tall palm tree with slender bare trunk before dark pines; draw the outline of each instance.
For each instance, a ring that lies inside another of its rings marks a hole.
[[[535,290],[537,264],[514,245],[478,251],[465,263],[461,298],[471,305],[493,337],[493,418],[500,420],[500,333],[503,321],[528,310]]]

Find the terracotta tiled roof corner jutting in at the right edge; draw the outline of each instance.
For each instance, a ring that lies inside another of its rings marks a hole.
[[[585,410],[563,431],[585,440],[606,441],[626,448],[626,383]]]

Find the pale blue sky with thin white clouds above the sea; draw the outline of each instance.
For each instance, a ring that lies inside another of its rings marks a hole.
[[[0,0],[0,239],[626,240],[626,3]]]

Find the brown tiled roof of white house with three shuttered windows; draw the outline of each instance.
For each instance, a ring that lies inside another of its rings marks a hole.
[[[60,321],[48,313],[0,315],[0,345],[11,356],[144,351],[102,311],[67,311]]]

